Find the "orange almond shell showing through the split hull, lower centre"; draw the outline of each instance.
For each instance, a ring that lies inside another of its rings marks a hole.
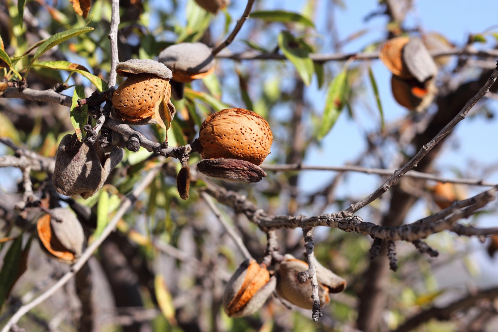
[[[245,278],[237,294],[226,307],[229,315],[234,315],[244,309],[253,295],[268,281],[270,274],[266,268],[261,267],[255,260],[251,260],[246,269]]]

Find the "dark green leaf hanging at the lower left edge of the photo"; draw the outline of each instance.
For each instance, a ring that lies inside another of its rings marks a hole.
[[[0,270],[0,309],[16,283],[21,268],[22,235],[19,235],[10,246],[4,257],[4,265]]]

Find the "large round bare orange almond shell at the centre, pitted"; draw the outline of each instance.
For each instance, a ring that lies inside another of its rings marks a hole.
[[[270,154],[270,126],[261,115],[242,108],[208,116],[199,131],[204,159],[233,158],[260,165]]]

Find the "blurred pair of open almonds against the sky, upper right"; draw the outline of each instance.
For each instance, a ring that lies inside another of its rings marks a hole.
[[[417,112],[424,111],[438,90],[438,67],[419,38],[396,37],[387,41],[379,58],[392,73],[391,88],[398,104]]]

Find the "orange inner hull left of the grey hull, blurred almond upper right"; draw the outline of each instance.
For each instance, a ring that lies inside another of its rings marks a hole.
[[[379,59],[391,73],[401,78],[413,78],[403,62],[403,47],[409,42],[408,37],[396,37],[388,40],[379,52]]]

